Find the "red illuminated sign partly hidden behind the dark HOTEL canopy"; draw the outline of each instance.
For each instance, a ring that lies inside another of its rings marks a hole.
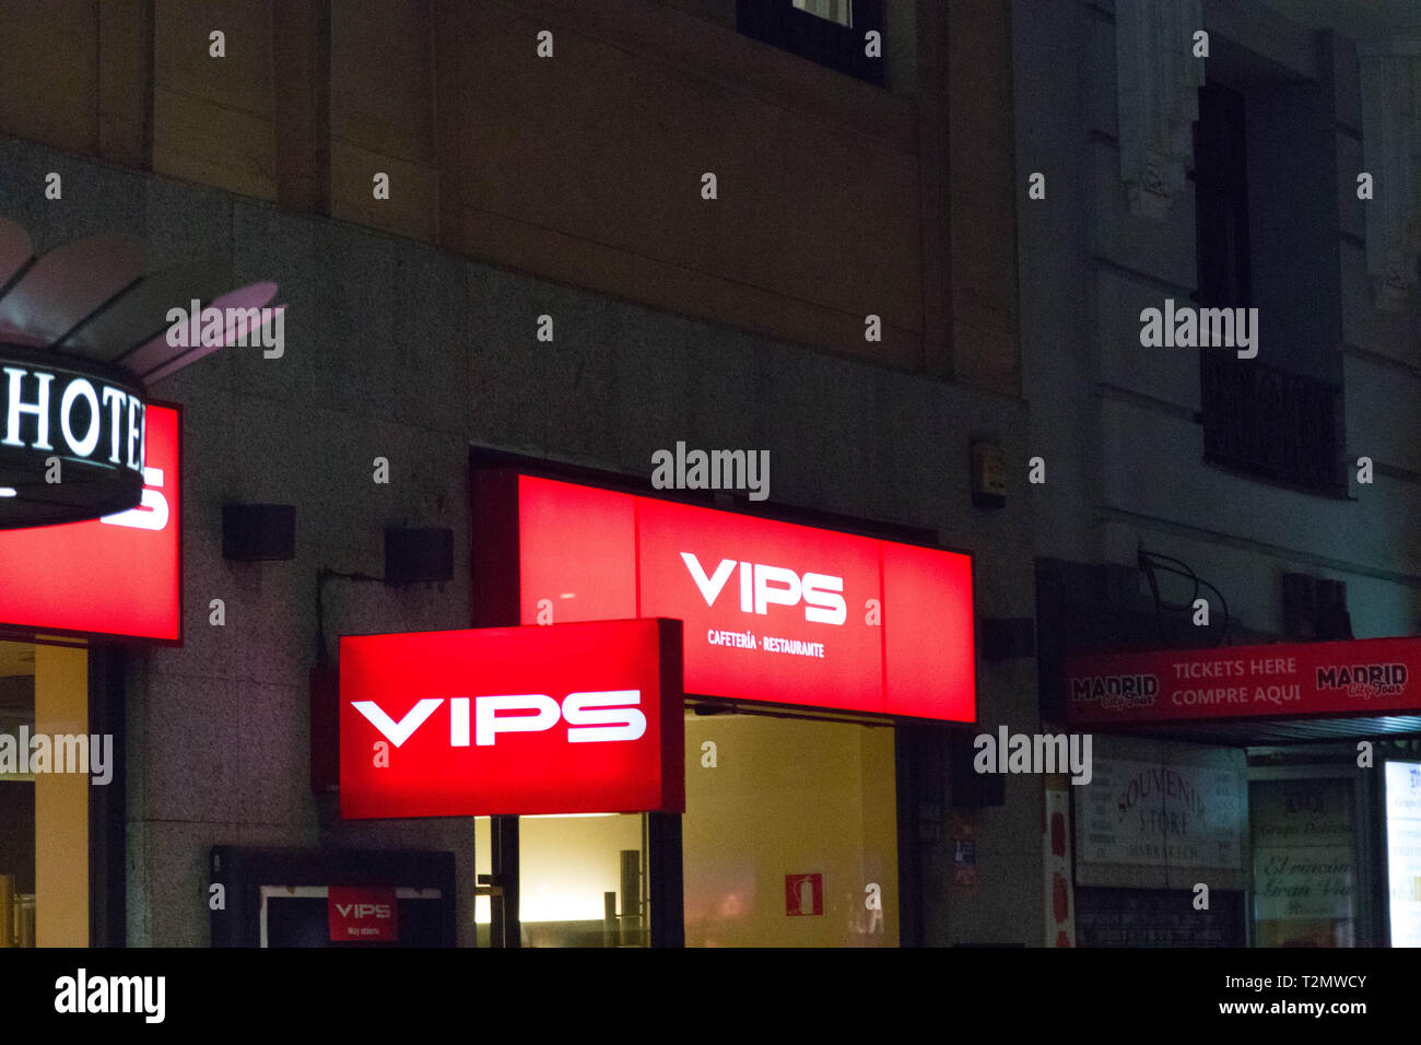
[[[0,532],[0,624],[182,640],[179,428],[176,409],[148,405],[138,508]]]

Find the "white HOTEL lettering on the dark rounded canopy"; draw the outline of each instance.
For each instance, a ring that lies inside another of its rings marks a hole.
[[[7,365],[0,371],[6,385],[0,446],[142,472],[145,407],[136,395],[58,370]]]

